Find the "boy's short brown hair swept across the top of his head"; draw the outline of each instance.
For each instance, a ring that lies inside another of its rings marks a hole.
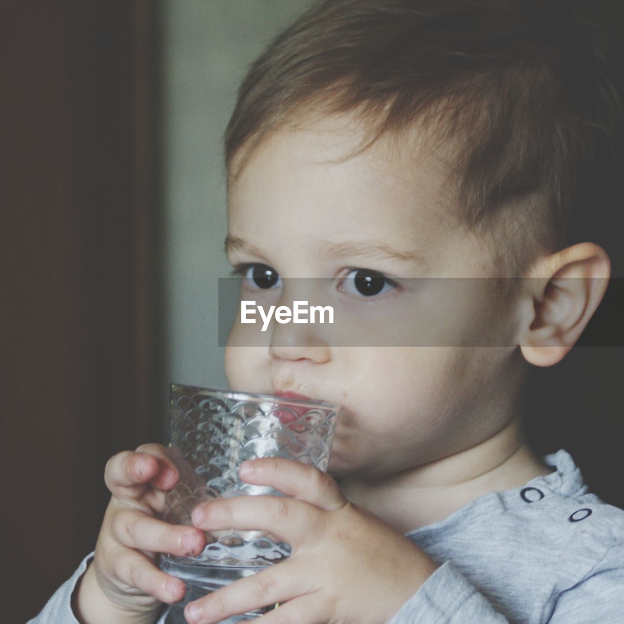
[[[242,154],[244,162],[299,114],[356,113],[368,132],[363,148],[424,122],[452,147],[459,214],[470,228],[534,224],[522,229],[557,250],[568,243],[588,167],[612,155],[621,115],[607,38],[585,6],[321,2],[251,66],[225,135],[226,161]],[[512,218],[495,219],[503,214]]]

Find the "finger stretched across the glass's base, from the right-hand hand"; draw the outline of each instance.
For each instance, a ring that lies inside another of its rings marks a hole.
[[[218,592],[188,603],[184,612],[187,621],[192,624],[223,622],[232,615],[269,607],[297,597],[305,589],[301,586],[301,579],[296,578],[293,573],[294,568],[289,567],[289,563],[285,561],[279,566],[268,567],[262,572],[230,583]],[[263,616],[263,622],[264,618],[266,615]],[[290,622],[290,620],[281,621]]]

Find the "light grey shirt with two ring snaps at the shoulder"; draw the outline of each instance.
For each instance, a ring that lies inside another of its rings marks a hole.
[[[624,624],[624,511],[588,494],[567,452],[544,462],[555,472],[407,534],[442,565],[389,624]],[[29,624],[77,624],[87,561]]]

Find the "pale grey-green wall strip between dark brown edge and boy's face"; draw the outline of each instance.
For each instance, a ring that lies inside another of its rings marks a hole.
[[[217,331],[218,278],[230,270],[222,135],[246,68],[310,4],[160,1],[167,382],[227,387]]]

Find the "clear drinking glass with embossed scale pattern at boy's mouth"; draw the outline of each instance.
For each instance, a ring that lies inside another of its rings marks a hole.
[[[246,459],[286,457],[326,470],[340,406],[270,394],[170,385],[167,455],[180,480],[165,494],[163,519],[191,525],[195,505],[240,495],[283,496],[266,485],[245,483],[238,467]],[[290,545],[261,530],[206,534],[197,557],[162,555],[160,568],[182,578],[187,593],[172,610],[179,622],[184,605],[238,578],[290,556]],[[268,607],[226,620],[251,620]],[[272,607],[271,607],[272,608]],[[173,617],[167,622],[177,622]]]

